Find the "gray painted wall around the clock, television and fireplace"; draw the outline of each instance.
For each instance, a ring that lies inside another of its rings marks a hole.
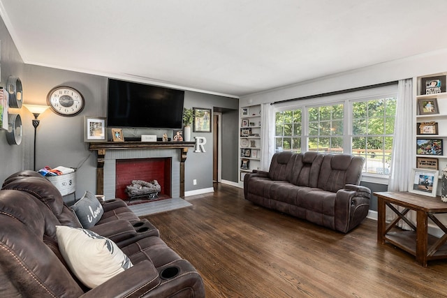
[[[84,142],[84,117],[105,117],[107,107],[107,77],[89,75],[56,68],[24,64],[13,40],[3,23],[0,22],[1,40],[1,82],[5,87],[9,75],[20,77],[23,85],[24,103],[46,105],[48,92],[57,86],[66,85],[78,89],[85,98],[84,110],[75,117],[61,117],[50,109],[45,111],[39,119],[41,124],[36,137],[36,169],[46,165],[56,167],[78,168],[76,174],[76,196],[80,197],[85,191],[96,190],[96,154],[88,150]],[[185,92],[186,107],[223,107],[238,108],[236,98],[226,98],[193,91]],[[23,140],[20,145],[9,145],[6,142],[6,132],[0,131],[0,156],[2,166],[0,181],[19,170],[33,170],[33,142],[34,127],[31,124],[33,115],[25,108],[10,110],[22,117]],[[222,115],[225,121],[226,114]],[[145,130],[124,130],[124,137],[147,133]],[[156,132],[157,134],[159,132]],[[171,132],[172,133],[172,132]],[[126,135],[127,134],[127,135]],[[162,134],[162,132],[161,132]],[[212,133],[192,133],[192,137],[200,135],[207,138],[206,153],[194,153],[189,150],[185,165],[185,191],[212,187]],[[231,143],[237,128],[233,132],[223,135],[223,143]],[[161,135],[160,135],[161,137]],[[229,141],[226,138],[229,137]],[[235,146],[237,151],[237,146]],[[237,175],[237,165],[233,160],[223,160],[225,172]],[[198,184],[192,185],[197,179]],[[227,178],[228,179],[228,178]],[[237,182],[237,179],[234,179]]]

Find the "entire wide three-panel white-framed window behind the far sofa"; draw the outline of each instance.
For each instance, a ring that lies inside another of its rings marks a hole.
[[[288,104],[277,107],[275,151],[353,154],[367,179],[390,173],[397,84]]]

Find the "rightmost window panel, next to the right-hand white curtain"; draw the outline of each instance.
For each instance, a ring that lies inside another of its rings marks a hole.
[[[352,154],[365,158],[367,173],[389,174],[396,103],[396,97],[352,103]]]

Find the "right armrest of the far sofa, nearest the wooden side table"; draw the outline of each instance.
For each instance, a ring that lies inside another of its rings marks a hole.
[[[346,184],[335,199],[335,230],[349,232],[368,215],[371,190],[365,186]]]

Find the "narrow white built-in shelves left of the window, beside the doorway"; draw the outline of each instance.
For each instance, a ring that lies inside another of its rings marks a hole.
[[[240,108],[239,122],[239,181],[247,172],[261,169],[261,105]]]

